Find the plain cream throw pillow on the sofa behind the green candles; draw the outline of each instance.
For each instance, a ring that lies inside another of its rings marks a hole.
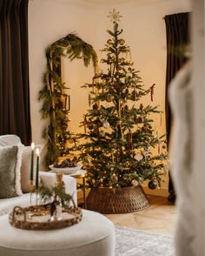
[[[43,145],[36,145],[40,152],[43,149]],[[21,188],[23,192],[31,192],[33,186],[30,184],[30,163],[31,163],[31,147],[24,146],[22,153],[22,166],[21,166]],[[34,154],[34,165],[33,165],[33,181],[36,182],[36,154]]]

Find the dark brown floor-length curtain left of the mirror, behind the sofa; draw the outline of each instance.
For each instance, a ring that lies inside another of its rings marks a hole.
[[[31,141],[28,0],[0,0],[0,135]]]

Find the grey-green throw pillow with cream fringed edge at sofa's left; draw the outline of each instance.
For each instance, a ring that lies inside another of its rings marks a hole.
[[[21,145],[0,147],[0,199],[9,199],[22,194],[21,156]]]

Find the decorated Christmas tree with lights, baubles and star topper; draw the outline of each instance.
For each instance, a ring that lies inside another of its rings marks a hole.
[[[129,46],[118,28],[121,17],[113,10],[109,17],[113,30],[102,52],[101,63],[107,71],[99,71],[89,88],[90,110],[84,115],[84,133],[79,145],[83,167],[88,172],[88,187],[128,187],[145,180],[154,189],[160,186],[164,172],[165,153],[155,152],[164,143],[154,135],[151,113],[160,113],[156,106],[140,103],[154,85],[144,89],[139,71],[129,59]]]

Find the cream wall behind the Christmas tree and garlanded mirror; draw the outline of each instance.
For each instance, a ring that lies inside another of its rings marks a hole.
[[[116,1],[117,3],[117,1]],[[92,4],[86,1],[71,0],[33,0],[29,5],[30,32],[30,102],[33,140],[41,142],[43,121],[37,102],[37,93],[42,88],[41,77],[45,68],[44,50],[60,37],[76,31],[79,37],[92,44],[98,53],[107,40],[106,30],[112,27],[107,17],[115,8],[122,14],[120,26],[122,37],[129,44],[131,57],[136,70],[146,86],[155,85],[153,104],[158,104],[164,111],[164,84],[166,72],[166,31],[162,17],[167,14],[191,10],[190,0],[149,0],[127,1],[117,4]],[[69,64],[63,61],[64,79],[70,87],[71,95],[71,131],[82,131],[78,127],[83,120],[83,113],[88,109],[88,92],[80,89],[84,83],[91,82],[92,67],[83,68],[80,61]],[[144,104],[151,104],[150,97],[143,99]],[[156,130],[165,132],[165,118],[155,118]],[[168,179],[162,184],[162,190],[148,191],[167,194]]]

